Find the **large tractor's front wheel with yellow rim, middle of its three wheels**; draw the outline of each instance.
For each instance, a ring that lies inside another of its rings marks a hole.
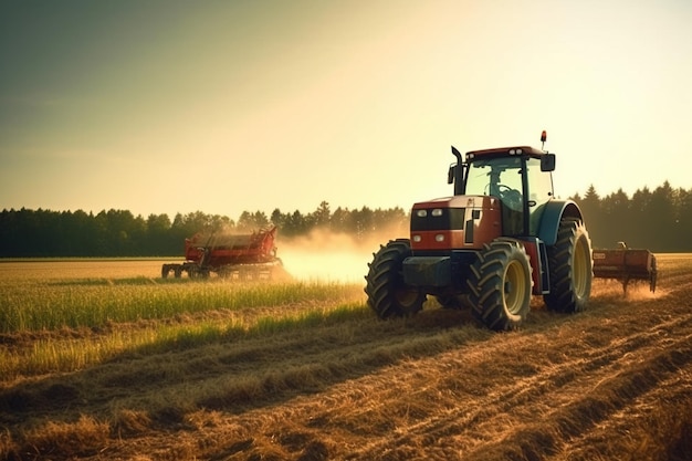
[[[531,264],[514,240],[485,245],[471,265],[469,301],[476,319],[497,332],[518,327],[531,308]]]

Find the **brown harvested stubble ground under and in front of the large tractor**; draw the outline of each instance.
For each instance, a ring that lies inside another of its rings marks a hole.
[[[464,312],[379,322],[366,311],[6,385],[6,454],[689,459],[692,264],[660,261],[654,296],[597,283],[587,312],[537,303],[508,334]],[[61,442],[88,430],[97,442]]]

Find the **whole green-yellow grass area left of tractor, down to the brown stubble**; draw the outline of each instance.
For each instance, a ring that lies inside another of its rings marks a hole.
[[[55,266],[56,275],[35,276]],[[0,274],[3,380],[369,314],[357,284],[73,277],[69,268],[36,262],[29,272]]]

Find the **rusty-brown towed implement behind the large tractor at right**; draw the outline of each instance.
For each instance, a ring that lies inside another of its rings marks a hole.
[[[594,250],[594,276],[617,280],[625,294],[630,282],[649,282],[649,291],[654,293],[656,255],[649,250],[630,249],[625,242],[614,250]]]

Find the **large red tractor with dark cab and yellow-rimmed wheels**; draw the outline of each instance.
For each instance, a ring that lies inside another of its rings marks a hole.
[[[408,316],[432,295],[443,307],[470,306],[494,331],[521,325],[532,294],[555,312],[583,311],[591,242],[579,207],[554,197],[555,154],[526,146],[465,159],[452,146],[452,154],[454,195],[413,205],[410,238],[373,254],[368,305],[380,318]]]

